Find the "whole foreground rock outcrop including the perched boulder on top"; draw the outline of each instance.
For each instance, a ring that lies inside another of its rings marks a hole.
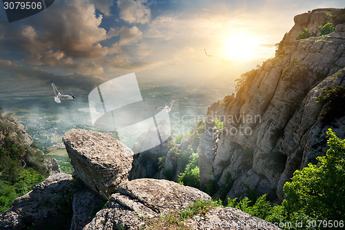
[[[128,180],[132,151],[106,134],[72,129],[63,143],[75,167],[73,176],[52,175],[14,200],[0,216],[0,229],[157,229],[154,224],[169,213],[210,200],[198,189],[169,180]],[[184,229],[219,229],[224,224],[278,229],[230,207],[215,207],[179,222]]]

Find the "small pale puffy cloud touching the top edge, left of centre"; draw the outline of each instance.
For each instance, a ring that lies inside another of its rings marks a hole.
[[[150,21],[151,11],[145,0],[118,0],[117,6],[120,8],[120,17],[129,23],[148,23]]]

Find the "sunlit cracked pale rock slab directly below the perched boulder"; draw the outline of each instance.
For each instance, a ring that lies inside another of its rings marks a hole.
[[[108,205],[86,225],[87,229],[144,229],[145,218],[159,213],[186,209],[195,200],[209,200],[210,196],[193,187],[169,180],[142,178],[124,181],[119,193],[112,194]]]

